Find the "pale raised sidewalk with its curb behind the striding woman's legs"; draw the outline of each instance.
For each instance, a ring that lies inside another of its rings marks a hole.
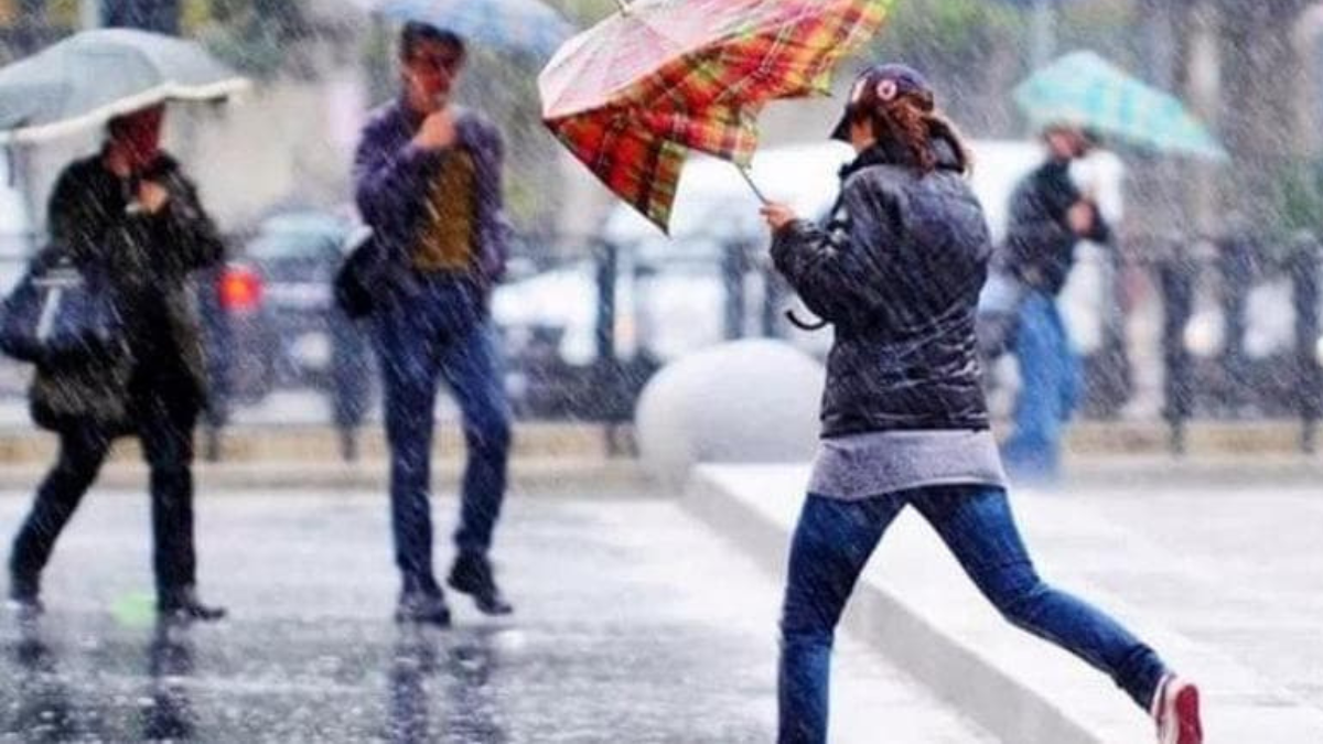
[[[687,506],[782,576],[807,467],[700,469]],[[1323,741],[1323,499],[1312,487],[1076,486],[1012,503],[1041,573],[1106,608],[1204,690],[1209,741]],[[1109,679],[1005,624],[902,515],[847,626],[1005,741],[1132,744]]]

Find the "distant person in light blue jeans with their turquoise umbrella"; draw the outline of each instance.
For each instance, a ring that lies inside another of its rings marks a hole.
[[[979,343],[990,356],[1008,346],[1020,363],[1007,469],[1021,481],[1052,482],[1080,393],[1080,363],[1056,301],[1076,245],[1111,236],[1097,204],[1072,181],[1070,164],[1088,154],[1093,132],[1172,156],[1224,162],[1226,152],[1175,97],[1088,50],[1036,70],[1016,86],[1015,102],[1048,155],[1011,199],[1005,242],[980,302]]]

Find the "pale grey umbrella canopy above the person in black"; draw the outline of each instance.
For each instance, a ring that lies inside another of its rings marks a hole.
[[[86,30],[0,69],[0,142],[42,142],[156,103],[222,99],[247,86],[197,42]]]

